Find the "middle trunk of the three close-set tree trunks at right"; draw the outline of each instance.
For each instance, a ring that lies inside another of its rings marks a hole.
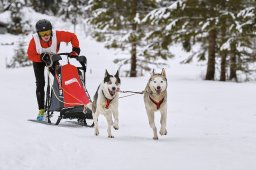
[[[226,42],[226,18],[221,20],[221,41]],[[226,81],[227,50],[221,51],[220,81]]]

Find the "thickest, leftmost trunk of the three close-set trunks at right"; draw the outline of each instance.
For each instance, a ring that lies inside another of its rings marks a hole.
[[[215,46],[216,46],[216,30],[212,29],[208,37],[208,63],[205,80],[214,80],[215,74]]]

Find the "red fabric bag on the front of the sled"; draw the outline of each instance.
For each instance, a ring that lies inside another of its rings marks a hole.
[[[64,107],[79,105],[86,107],[90,100],[80,80],[77,68],[71,64],[66,64],[61,68],[61,75]]]

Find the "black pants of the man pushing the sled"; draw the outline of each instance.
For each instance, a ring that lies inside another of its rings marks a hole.
[[[44,68],[46,67],[44,62],[33,62],[33,68],[36,78],[36,97],[39,109],[44,109],[44,86],[45,86],[45,77],[44,77]],[[52,75],[54,75],[54,69],[49,69]]]

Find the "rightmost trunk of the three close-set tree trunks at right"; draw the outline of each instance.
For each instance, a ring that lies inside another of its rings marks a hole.
[[[230,77],[229,80],[237,81],[237,57],[236,57],[236,43],[231,43],[231,51],[230,51]]]

